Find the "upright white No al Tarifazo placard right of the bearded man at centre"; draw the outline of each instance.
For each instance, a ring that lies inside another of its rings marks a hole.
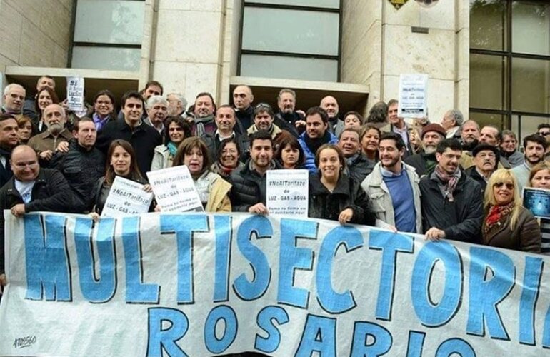
[[[266,203],[269,214],[307,218],[309,171],[269,170],[266,175]]]

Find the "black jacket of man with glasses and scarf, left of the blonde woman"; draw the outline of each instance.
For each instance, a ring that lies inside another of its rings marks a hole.
[[[420,179],[422,227],[424,233],[431,227],[445,231],[447,239],[478,243],[481,240],[483,197],[479,183],[464,172],[454,191],[454,200],[443,197],[436,178]]]

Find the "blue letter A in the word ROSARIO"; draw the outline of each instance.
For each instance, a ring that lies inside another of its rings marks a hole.
[[[306,326],[295,357],[309,357],[318,352],[323,357],[336,357],[336,318],[308,313]]]

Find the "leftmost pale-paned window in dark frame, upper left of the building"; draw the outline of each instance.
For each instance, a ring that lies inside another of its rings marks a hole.
[[[72,68],[138,71],[143,38],[142,0],[78,0]]]

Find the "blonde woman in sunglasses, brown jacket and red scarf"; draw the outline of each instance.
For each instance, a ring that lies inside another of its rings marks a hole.
[[[540,253],[541,229],[534,216],[521,206],[516,177],[499,169],[485,190],[485,217],[481,234],[487,246]]]

